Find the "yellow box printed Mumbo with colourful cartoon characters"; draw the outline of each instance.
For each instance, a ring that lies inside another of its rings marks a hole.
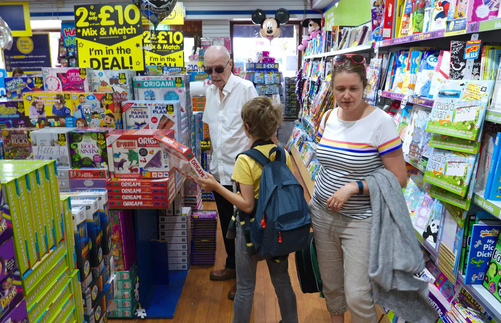
[[[122,128],[122,110],[115,105],[113,93],[77,93],[73,102],[74,125],[79,128]]]

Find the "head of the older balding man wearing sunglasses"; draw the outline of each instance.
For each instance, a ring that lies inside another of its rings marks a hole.
[[[230,59],[228,49],[220,45],[210,46],[205,50],[203,60],[205,69],[213,70],[210,74],[212,83],[222,90],[224,85],[228,82],[228,78],[231,75],[231,69],[233,68],[233,61]],[[214,69],[217,67],[224,67],[224,71],[222,73],[216,72]]]

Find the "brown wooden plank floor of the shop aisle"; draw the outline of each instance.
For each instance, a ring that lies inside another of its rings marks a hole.
[[[294,164],[294,161],[293,161]],[[295,166],[295,175],[298,170]],[[302,181],[298,177],[300,182]],[[305,197],[310,200],[310,196]],[[215,202],[205,202],[204,209],[215,209]],[[191,266],[184,283],[181,297],[173,319],[138,319],[146,323],[230,323],[233,318],[233,302],[227,298],[228,290],[235,279],[212,281],[211,270],[221,269],[226,259],[221,230],[218,228],[216,265],[214,267]],[[330,323],[330,315],[324,298],[318,294],[303,294],[299,287],[294,255],[289,257],[289,273],[298,301],[300,323]],[[278,323],[281,319],[275,289],[273,288],[265,261],[258,264],[256,291],[250,323]],[[136,319],[110,319],[111,323],[134,323]],[[351,323],[350,314],[345,315],[345,323]]]

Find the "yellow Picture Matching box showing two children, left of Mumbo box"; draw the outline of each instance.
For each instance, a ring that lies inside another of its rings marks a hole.
[[[73,126],[74,101],[77,93],[26,92],[23,93],[26,123],[44,126]]]

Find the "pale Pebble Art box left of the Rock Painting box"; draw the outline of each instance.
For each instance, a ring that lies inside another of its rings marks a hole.
[[[59,169],[71,167],[69,132],[73,127],[44,127],[30,133],[34,159],[54,159]]]

